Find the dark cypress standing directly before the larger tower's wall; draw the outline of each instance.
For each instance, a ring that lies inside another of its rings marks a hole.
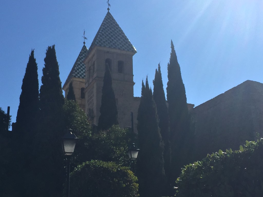
[[[112,125],[118,124],[118,110],[112,87],[112,76],[110,74],[109,66],[107,65],[103,79],[98,130],[107,130]]]

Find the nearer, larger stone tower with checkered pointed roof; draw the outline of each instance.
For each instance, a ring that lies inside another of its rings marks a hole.
[[[113,16],[106,14],[84,59],[85,113],[91,123],[97,124],[100,115],[105,65],[109,65],[117,101],[120,127],[130,126],[133,111],[133,55],[135,48]]]

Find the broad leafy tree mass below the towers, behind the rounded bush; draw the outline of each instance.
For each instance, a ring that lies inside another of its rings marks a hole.
[[[66,100],[64,105],[66,128],[71,128],[79,138],[72,157],[73,167],[89,160],[103,160],[129,166],[128,144],[134,140],[134,133],[113,125],[107,131],[93,132],[87,116],[78,103]],[[73,169],[73,168],[71,168]]]

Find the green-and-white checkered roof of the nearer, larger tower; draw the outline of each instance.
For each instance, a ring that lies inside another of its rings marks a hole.
[[[134,53],[137,52],[110,12],[106,14],[102,24],[100,25],[100,28],[89,47],[89,51],[91,51],[94,46],[103,46],[131,51]]]

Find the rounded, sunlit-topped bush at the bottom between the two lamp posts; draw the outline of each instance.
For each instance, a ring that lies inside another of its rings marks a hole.
[[[78,165],[71,173],[70,196],[139,196],[137,180],[128,167],[92,160]]]

